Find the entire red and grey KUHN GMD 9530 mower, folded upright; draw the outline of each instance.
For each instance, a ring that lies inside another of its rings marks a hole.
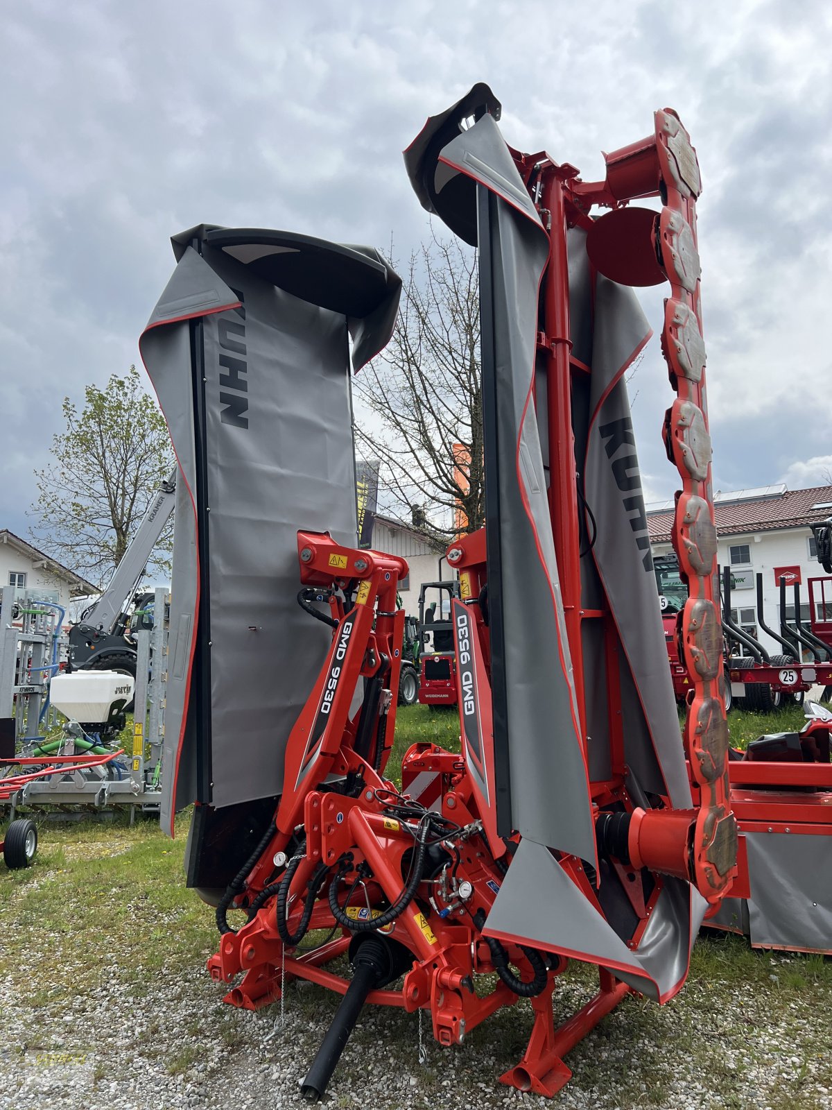
[[[407,567],[355,542],[349,375],[390,335],[389,265],[197,226],[174,239],[141,341],[182,477],[163,821],[196,801],[187,879],[216,907],[209,967],[230,1003],[293,979],[343,996],[310,1099],[366,1002],[424,1010],[449,1046],[519,998],[530,1037],[503,1081],[554,1094],[562,1057],[628,992],[681,988],[737,874],[696,153],[659,111],[585,182],[506,145],[499,115],[478,84],[405,154],[423,206],[479,250],[487,523],[448,556],[461,754],[415,745],[396,785]],[[629,203],[647,196],[659,211]],[[659,282],[684,751],[625,385],[650,336],[628,286]],[[556,1028],[569,960],[599,989]]]

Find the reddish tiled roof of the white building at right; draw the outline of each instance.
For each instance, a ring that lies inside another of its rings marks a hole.
[[[815,507],[819,505],[825,507]],[[832,516],[832,485],[812,486],[811,490],[787,490],[780,485],[719,493],[713,498],[713,515],[720,536],[806,527]],[[651,543],[669,543],[673,527],[672,504],[661,508],[648,505],[647,526]]]

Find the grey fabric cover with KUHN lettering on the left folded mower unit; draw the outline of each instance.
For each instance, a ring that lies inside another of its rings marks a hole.
[[[400,281],[369,248],[200,226],[141,339],[177,483],[163,825],[282,788],[331,637],[296,603],[296,533],[356,543],[349,391]]]

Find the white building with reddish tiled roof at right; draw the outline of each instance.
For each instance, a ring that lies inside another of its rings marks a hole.
[[[785,619],[794,618],[794,588],[801,594],[801,622],[809,622],[809,581],[825,576],[818,563],[814,536],[810,524],[832,516],[832,486],[811,490],[787,490],[784,484],[718,493],[713,498],[717,535],[717,561],[730,566],[732,575],[731,615],[742,628],[752,633],[763,647],[782,652],[758,625],[757,574],[762,574],[765,623],[780,630],[781,575],[787,587]],[[673,526],[673,503],[647,505],[647,519],[653,555],[672,552],[670,533]],[[824,616],[823,606],[826,613]],[[816,619],[832,619],[832,588],[828,583],[823,598],[814,587]]]

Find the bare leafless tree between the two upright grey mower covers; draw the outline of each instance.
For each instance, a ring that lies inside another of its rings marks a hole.
[[[355,381],[359,452],[381,462],[382,509],[444,547],[484,522],[479,274],[435,235],[410,256],[396,331]]]

